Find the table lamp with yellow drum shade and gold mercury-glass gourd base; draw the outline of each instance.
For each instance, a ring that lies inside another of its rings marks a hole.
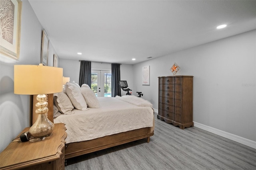
[[[47,118],[48,102],[45,94],[62,92],[63,68],[39,65],[14,65],[14,94],[38,96],[38,118],[30,127],[30,135],[43,138],[51,135],[54,124]]]

